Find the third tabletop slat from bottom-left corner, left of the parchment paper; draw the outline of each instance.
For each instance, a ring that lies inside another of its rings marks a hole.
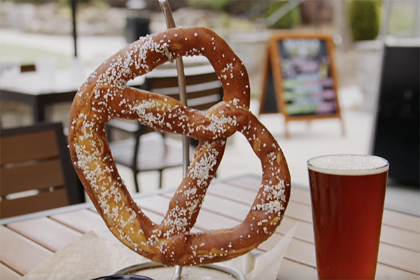
[[[58,251],[66,244],[82,236],[80,232],[46,217],[9,223],[7,227],[48,248],[52,252]]]

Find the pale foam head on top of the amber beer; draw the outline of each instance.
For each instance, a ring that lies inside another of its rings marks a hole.
[[[323,155],[307,162],[309,169],[332,175],[373,175],[386,172],[389,163],[374,155]]]

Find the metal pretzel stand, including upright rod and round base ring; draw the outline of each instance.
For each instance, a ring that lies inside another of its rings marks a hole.
[[[174,28],[176,27],[174,17],[172,15],[172,10],[169,6],[169,2],[167,0],[159,0],[160,8],[162,8],[162,13],[165,15],[165,21],[167,24],[167,28]],[[187,90],[186,90],[186,76],[184,73],[184,66],[183,66],[183,60],[182,57],[172,57],[171,52],[169,52],[169,49],[165,47],[165,55],[167,55],[169,62],[174,62],[176,64],[176,71],[178,73],[178,85],[179,85],[179,99],[183,105],[187,106]],[[182,136],[182,143],[183,143],[183,174],[185,175],[187,173],[188,165],[190,165],[190,139],[186,137],[185,135]],[[144,269],[158,269],[159,267],[163,267],[160,263],[157,262],[143,262],[137,265],[132,265],[130,267],[125,267],[123,269],[120,269],[116,272],[114,272],[114,275],[117,274],[133,274],[135,272],[139,272]],[[237,280],[246,280],[246,277],[244,274],[239,272],[239,270],[228,267],[224,265],[202,265],[200,267],[205,267],[208,269],[215,269],[220,272],[225,272],[226,274],[229,274],[230,276],[235,277]],[[182,267],[180,265],[174,266],[174,275],[172,276],[171,280],[180,280],[182,276]],[[163,280],[163,279],[156,279],[156,280]]]

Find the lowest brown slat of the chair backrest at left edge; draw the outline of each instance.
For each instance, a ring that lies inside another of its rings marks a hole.
[[[39,193],[29,197],[0,201],[0,218],[8,218],[68,205],[66,189]]]

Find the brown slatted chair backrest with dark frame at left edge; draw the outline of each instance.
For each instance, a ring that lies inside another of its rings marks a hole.
[[[0,130],[0,218],[82,202],[61,123]]]

